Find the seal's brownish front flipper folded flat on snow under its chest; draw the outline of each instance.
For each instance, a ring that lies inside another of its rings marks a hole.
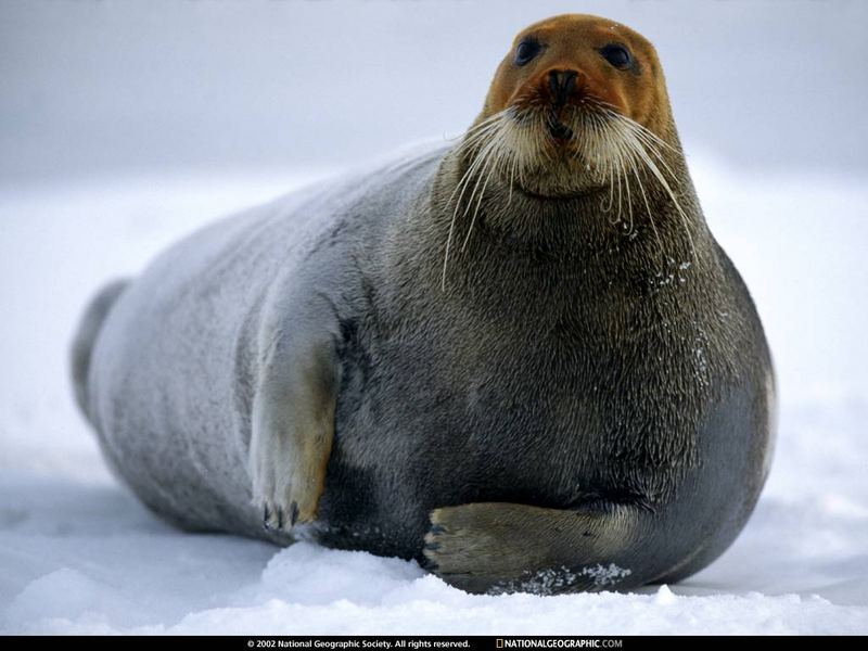
[[[631,506],[560,510],[505,502],[431,512],[424,556],[446,583],[468,592],[637,587],[659,572],[637,564],[643,520]]]

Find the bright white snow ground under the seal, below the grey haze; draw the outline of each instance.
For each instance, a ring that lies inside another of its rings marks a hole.
[[[737,542],[682,584],[631,595],[469,596],[414,563],[157,521],[73,405],[80,309],[180,234],[317,174],[0,184],[0,631],[868,633],[868,189],[690,163],[766,324],[779,439]]]

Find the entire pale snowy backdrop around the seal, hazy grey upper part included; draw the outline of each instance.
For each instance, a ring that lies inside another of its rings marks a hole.
[[[868,633],[865,8],[4,2],[0,633]],[[780,426],[741,537],[678,585],[481,597],[414,563],[152,516],[72,401],[91,293],[214,217],[459,135],[513,33],[563,11],[656,42],[706,218],[763,317]]]

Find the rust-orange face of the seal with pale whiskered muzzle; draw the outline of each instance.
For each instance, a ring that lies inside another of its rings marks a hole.
[[[511,141],[511,181],[542,196],[611,183],[625,171],[618,165],[630,158],[631,138],[655,143],[674,136],[651,43],[623,25],[582,15],[519,34],[476,128],[495,122],[505,123]]]

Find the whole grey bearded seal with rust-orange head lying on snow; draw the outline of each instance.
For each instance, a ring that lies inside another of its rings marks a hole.
[[[73,372],[111,465],[170,522],[416,559],[473,592],[697,572],[774,439],[763,328],[654,48],[588,15],[522,31],[454,146],[110,285]]]

